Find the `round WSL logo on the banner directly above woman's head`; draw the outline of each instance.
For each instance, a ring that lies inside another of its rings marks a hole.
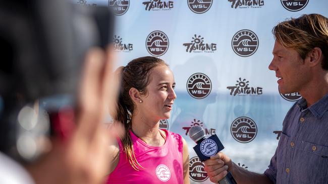
[[[153,31],[146,39],[146,48],[151,55],[161,56],[169,49],[169,38],[161,31]]]

